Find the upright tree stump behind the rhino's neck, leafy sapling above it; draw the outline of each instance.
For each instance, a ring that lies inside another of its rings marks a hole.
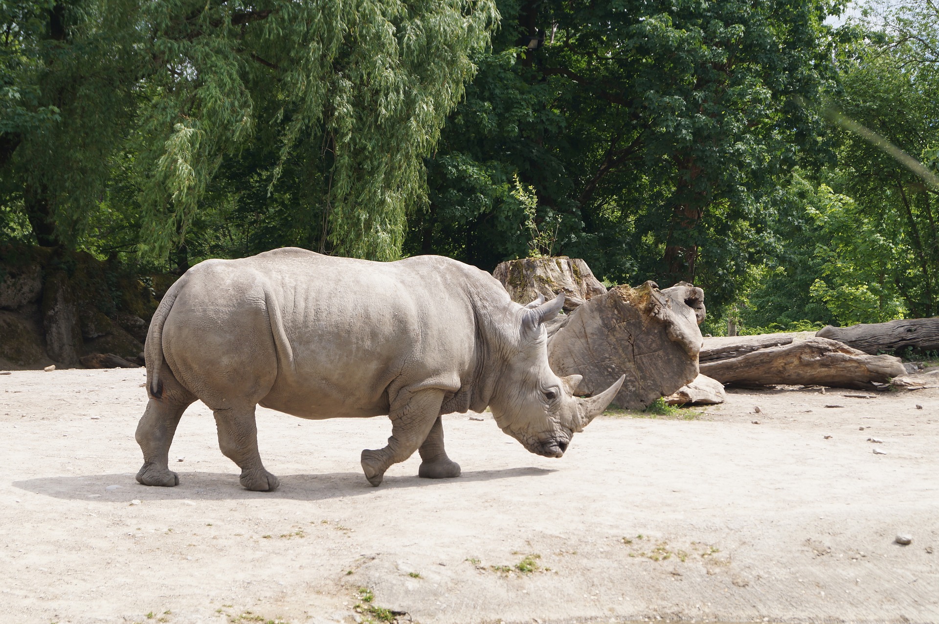
[[[563,290],[567,312],[607,292],[587,263],[579,258],[523,257],[500,263],[492,275],[509,292],[512,301],[522,305],[538,295],[551,299]]]

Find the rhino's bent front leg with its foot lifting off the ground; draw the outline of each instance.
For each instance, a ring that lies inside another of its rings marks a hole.
[[[409,392],[402,390],[392,405],[392,437],[380,450],[362,451],[362,471],[373,486],[381,484],[385,471],[393,463],[407,460],[423,444],[437,422],[443,391],[433,388]]]

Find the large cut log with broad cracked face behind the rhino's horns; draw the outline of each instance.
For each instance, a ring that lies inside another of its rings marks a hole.
[[[583,375],[577,394],[596,394],[625,375],[613,403],[643,409],[698,376],[695,312],[653,282],[614,287],[564,318],[548,339],[548,363],[557,375]]]

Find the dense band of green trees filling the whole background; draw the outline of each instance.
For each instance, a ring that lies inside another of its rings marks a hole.
[[[939,13],[844,4],[0,0],[0,245],[568,255],[693,281],[714,332],[934,315]]]

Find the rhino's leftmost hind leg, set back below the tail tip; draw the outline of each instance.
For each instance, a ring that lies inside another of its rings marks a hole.
[[[137,444],[144,451],[144,465],[137,473],[137,482],[172,488],[179,485],[179,476],[169,468],[170,445],[179,418],[189,403],[151,398],[137,424]]]

